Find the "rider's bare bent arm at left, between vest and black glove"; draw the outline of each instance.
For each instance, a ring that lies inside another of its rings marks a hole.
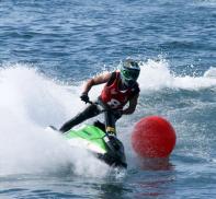
[[[106,83],[110,80],[111,75],[112,75],[112,73],[103,73],[103,74],[96,75],[96,77],[88,80],[84,83],[84,87],[83,87],[82,93],[88,94],[93,85]]]

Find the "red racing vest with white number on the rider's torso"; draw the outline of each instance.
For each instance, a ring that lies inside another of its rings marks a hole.
[[[113,109],[122,109],[132,94],[132,89],[125,91],[118,89],[120,80],[120,72],[116,72],[114,82],[111,85],[106,84],[100,96],[101,101]]]

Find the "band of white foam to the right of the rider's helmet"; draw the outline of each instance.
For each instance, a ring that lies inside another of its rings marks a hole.
[[[204,77],[177,77],[170,70],[167,60],[152,60],[141,63],[138,82],[141,91],[158,91],[161,89],[201,90],[216,86],[215,68],[209,68]]]

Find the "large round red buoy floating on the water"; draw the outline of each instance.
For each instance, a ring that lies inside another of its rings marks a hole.
[[[139,120],[132,134],[132,145],[141,157],[168,157],[174,149],[175,140],[171,124],[158,116]]]

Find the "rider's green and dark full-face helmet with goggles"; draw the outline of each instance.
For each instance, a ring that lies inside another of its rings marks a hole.
[[[127,85],[134,84],[137,81],[139,72],[139,65],[133,59],[126,59],[121,65],[121,78]]]

